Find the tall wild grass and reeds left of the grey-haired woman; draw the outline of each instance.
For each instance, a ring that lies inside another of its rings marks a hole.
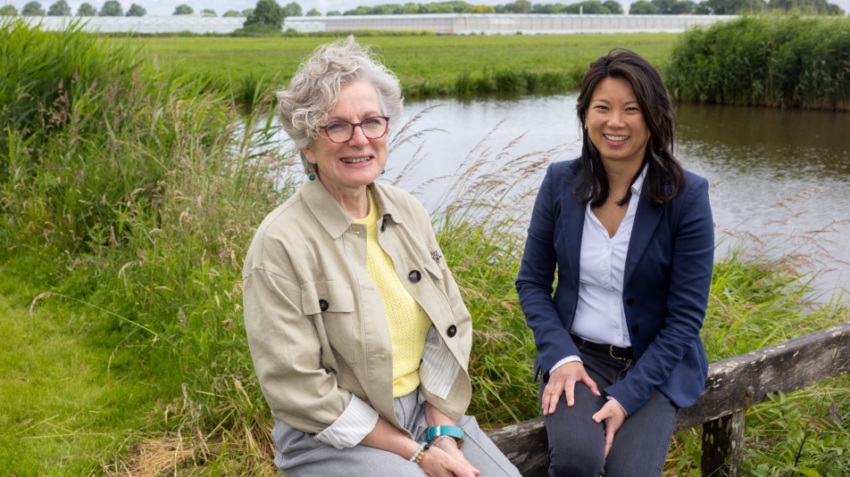
[[[210,83],[77,27],[8,21],[0,45],[4,261],[45,284],[40,300],[90,304],[104,341],[135,344],[168,390],[164,429],[262,425],[241,261],[294,185],[271,96],[243,117]]]

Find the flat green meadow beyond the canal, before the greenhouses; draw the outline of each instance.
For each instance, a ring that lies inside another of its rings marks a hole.
[[[506,36],[362,37],[373,45],[405,86],[425,81],[442,82],[463,73],[486,70],[571,71],[612,48],[629,48],[656,65],[672,51],[678,34],[582,34]],[[158,62],[173,64],[212,76],[266,78],[278,75],[287,81],[304,56],[331,37],[241,38],[165,37],[141,38],[146,53]],[[120,40],[115,40],[120,41]]]

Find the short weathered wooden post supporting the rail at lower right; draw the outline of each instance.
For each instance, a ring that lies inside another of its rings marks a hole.
[[[741,477],[746,409],[703,424],[703,477]]]

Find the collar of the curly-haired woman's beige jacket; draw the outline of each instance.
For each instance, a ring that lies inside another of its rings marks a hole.
[[[369,185],[369,188],[375,195],[375,202],[378,206],[380,217],[391,218],[396,224],[401,224],[401,215],[396,210],[396,204],[387,197],[386,187],[387,185],[375,182]],[[319,221],[321,226],[325,228],[325,231],[335,240],[344,234],[351,227],[352,223],[354,223],[348,212],[330,195],[328,189],[324,185],[321,185],[321,181],[304,181],[304,184],[301,185],[301,195],[304,197],[304,203],[313,217]]]

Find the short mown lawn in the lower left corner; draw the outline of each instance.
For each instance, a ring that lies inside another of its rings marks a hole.
[[[150,422],[162,376],[85,307],[0,267],[0,475],[97,473]],[[121,343],[121,346],[117,346]],[[129,439],[128,439],[129,438]]]

